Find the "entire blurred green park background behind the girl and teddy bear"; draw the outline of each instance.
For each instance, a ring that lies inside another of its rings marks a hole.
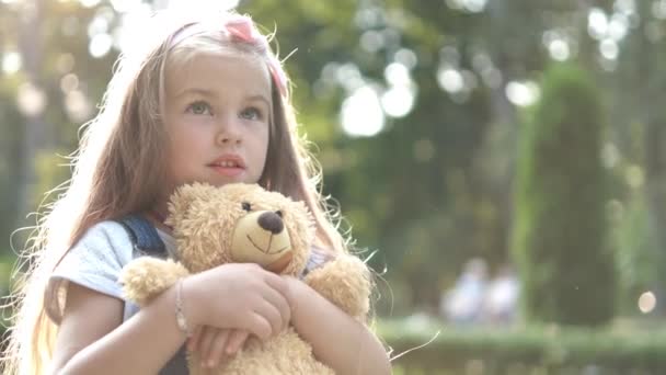
[[[277,31],[397,374],[666,373],[666,0],[0,0],[2,294],[174,3]]]

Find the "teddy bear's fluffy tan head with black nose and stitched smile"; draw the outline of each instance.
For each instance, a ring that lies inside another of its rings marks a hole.
[[[180,261],[193,273],[229,262],[254,262],[298,275],[308,261],[314,227],[302,202],[257,184],[183,185],[171,196]]]

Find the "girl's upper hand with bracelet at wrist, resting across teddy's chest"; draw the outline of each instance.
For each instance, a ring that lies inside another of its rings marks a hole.
[[[291,317],[288,282],[257,264],[223,264],[186,277],[182,288],[190,327],[245,330],[264,341]]]

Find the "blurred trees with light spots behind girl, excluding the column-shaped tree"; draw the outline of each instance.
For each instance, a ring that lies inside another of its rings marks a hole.
[[[3,238],[34,224],[26,214],[67,179],[67,159],[54,155],[73,151],[118,44],[131,39],[124,8],[168,2],[0,1]],[[238,9],[277,31],[280,56],[294,52],[286,70],[323,191],[358,248],[379,250],[370,264],[387,281],[380,315],[435,311],[472,257],[492,269],[512,262],[518,114],[553,59],[577,61],[609,103],[601,155],[621,311],[639,315],[636,294],[666,285],[666,262],[651,261],[666,246],[664,1],[244,0]],[[368,92],[367,112],[379,106],[382,126],[353,136],[343,109]]]

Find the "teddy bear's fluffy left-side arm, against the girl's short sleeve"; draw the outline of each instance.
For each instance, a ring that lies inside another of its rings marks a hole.
[[[125,297],[139,306],[145,306],[175,284],[179,279],[188,274],[185,266],[171,259],[141,257],[123,268],[119,281]]]

